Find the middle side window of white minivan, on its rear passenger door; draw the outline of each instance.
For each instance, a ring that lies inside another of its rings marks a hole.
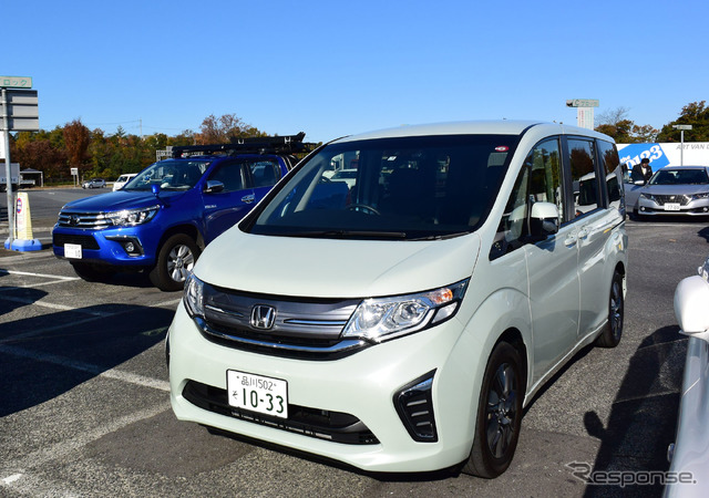
[[[568,139],[568,156],[574,186],[574,216],[583,216],[598,207],[598,181],[593,141]]]

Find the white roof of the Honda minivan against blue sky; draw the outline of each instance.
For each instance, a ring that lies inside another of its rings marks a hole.
[[[335,141],[345,143],[360,139],[395,138],[407,136],[430,135],[521,135],[528,128],[546,128],[549,134],[586,135],[608,139],[606,135],[592,129],[568,126],[563,123],[544,123],[541,121],[497,120],[497,121],[466,121],[451,123],[433,123],[422,125],[405,125],[395,128],[379,129],[358,135],[346,136]]]

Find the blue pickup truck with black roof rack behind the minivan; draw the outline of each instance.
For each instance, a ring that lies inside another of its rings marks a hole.
[[[174,147],[121,190],[66,204],[54,255],[85,280],[146,271],[164,291],[183,288],[205,246],[240,220],[307,153],[305,133],[237,144]]]

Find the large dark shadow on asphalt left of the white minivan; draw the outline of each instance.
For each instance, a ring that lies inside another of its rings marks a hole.
[[[14,305],[0,303],[0,314]],[[0,323],[0,417],[52,400],[148,350],[165,339],[174,314],[102,304]]]

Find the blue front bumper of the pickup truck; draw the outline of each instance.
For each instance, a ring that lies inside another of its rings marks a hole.
[[[153,240],[147,230],[135,228],[89,230],[54,226],[52,230],[54,256],[66,257],[65,243],[81,246],[81,259],[66,259],[117,267],[154,264],[157,246],[157,241]]]

